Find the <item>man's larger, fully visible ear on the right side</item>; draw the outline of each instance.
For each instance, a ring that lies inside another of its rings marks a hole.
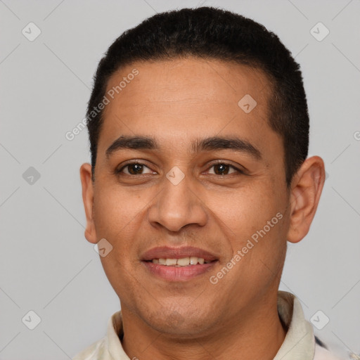
[[[294,176],[290,193],[290,226],[287,240],[298,243],[307,235],[325,182],[325,165],[319,156],[305,160]]]

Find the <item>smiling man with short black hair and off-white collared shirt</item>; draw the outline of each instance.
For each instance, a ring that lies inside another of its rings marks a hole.
[[[121,311],[79,359],[335,359],[278,291],[325,169],[299,65],[262,25],[160,13],[98,65],[80,169],[86,239]]]

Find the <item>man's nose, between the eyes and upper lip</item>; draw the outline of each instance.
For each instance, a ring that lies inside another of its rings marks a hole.
[[[162,191],[148,210],[148,220],[153,226],[163,226],[168,231],[180,231],[189,224],[206,224],[205,204],[191,187],[189,176],[185,176],[179,184],[164,178]]]

